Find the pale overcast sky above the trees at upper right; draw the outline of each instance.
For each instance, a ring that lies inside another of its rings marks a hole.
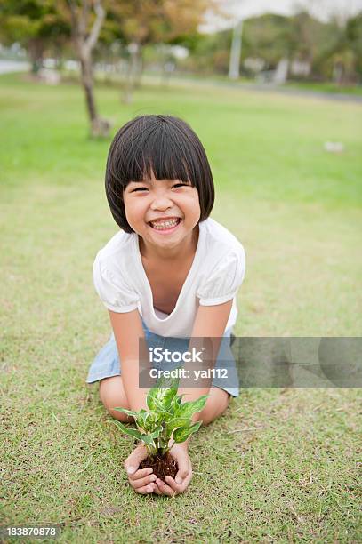
[[[362,0],[219,0],[219,4],[229,13],[230,20],[208,15],[206,24],[200,27],[202,32],[233,27],[238,19],[267,12],[291,15],[306,9],[320,20],[328,20],[334,15],[343,20],[346,16],[362,12]]]

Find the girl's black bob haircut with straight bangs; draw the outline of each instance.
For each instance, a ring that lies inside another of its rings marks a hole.
[[[213,174],[205,149],[189,124],[173,116],[139,116],[122,126],[107,159],[106,195],[117,225],[133,233],[125,218],[123,192],[130,181],[181,180],[197,188],[200,221],[214,201]]]

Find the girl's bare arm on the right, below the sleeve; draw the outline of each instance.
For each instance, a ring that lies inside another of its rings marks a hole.
[[[208,361],[207,367],[213,368],[216,362],[216,358],[219,352],[223,333],[225,331],[226,324],[228,323],[230,311],[232,307],[232,300],[218,304],[217,306],[199,306],[197,310],[197,316],[195,318],[194,327],[192,330],[192,337],[189,341],[189,351],[192,352],[192,348],[197,351],[203,351],[202,359]],[[189,370],[189,376],[194,376],[194,370],[198,364],[185,363],[185,370]],[[192,379],[192,378],[190,378]],[[196,400],[199,396],[208,395],[213,378],[198,379],[198,388],[179,388],[178,395],[185,394],[185,401]],[[192,420],[195,422],[199,419],[200,412],[195,413],[192,416]]]

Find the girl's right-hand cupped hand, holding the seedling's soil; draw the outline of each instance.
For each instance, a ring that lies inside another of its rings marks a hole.
[[[173,495],[184,492],[188,487],[192,478],[192,466],[189,459],[188,445],[184,442],[181,444],[173,444],[170,454],[173,459],[176,460],[179,467],[175,479],[171,476],[166,476],[166,483],[164,483],[157,478],[156,483],[153,485],[157,495],[168,495],[169,497],[173,497]],[[178,483],[179,479],[181,480],[181,483]]]

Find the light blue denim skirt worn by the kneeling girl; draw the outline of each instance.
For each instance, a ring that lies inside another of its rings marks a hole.
[[[166,349],[173,353],[175,351],[184,353],[189,349],[189,338],[168,338],[150,332],[142,320],[142,327],[145,333],[145,339],[149,348]],[[225,331],[221,340],[218,358],[213,369],[212,387],[224,389],[231,396],[239,396],[239,382],[237,375],[237,365],[235,357],[230,348],[231,329]],[[170,357],[169,357],[170,358]],[[152,362],[152,367],[157,371],[171,371],[181,366],[180,362]],[[86,379],[86,383],[110,378],[111,376],[121,376],[121,362],[118,356],[117,343],[114,333],[111,332],[108,342],[101,348],[91,364]],[[195,386],[197,387],[197,386]]]

